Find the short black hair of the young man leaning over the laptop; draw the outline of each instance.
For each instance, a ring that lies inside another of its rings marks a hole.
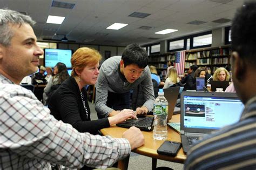
[[[136,64],[138,67],[144,69],[147,66],[148,59],[146,50],[136,43],[127,45],[122,55],[124,67],[130,64]]]

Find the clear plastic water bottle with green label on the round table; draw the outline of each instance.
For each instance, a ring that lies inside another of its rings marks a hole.
[[[154,129],[153,138],[156,140],[167,139],[167,114],[168,114],[168,101],[164,97],[163,89],[159,89],[158,97],[154,100]]]

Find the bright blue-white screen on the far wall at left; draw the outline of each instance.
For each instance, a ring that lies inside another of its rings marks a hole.
[[[44,66],[54,67],[58,62],[64,63],[68,69],[71,68],[72,50],[44,49]]]

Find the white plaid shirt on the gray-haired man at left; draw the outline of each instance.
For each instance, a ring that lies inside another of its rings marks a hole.
[[[107,168],[130,152],[126,139],[79,133],[57,121],[31,91],[0,74],[0,169]]]

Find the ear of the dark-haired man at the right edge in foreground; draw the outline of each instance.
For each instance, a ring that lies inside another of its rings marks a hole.
[[[238,52],[233,52],[232,56],[232,67],[233,67],[233,75],[239,80],[243,80],[245,78],[246,73],[246,62],[245,60],[241,59]]]

